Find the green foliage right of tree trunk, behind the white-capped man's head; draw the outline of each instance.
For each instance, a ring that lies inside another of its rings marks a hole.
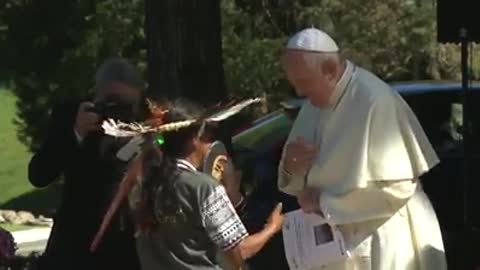
[[[387,81],[459,79],[459,48],[437,43],[435,8],[430,0],[223,0],[227,85],[242,95],[284,97],[281,48],[309,26],[329,33],[348,59]],[[473,48],[472,75],[479,78]]]

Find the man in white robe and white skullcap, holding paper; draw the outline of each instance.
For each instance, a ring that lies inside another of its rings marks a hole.
[[[315,28],[289,40],[283,64],[308,101],[284,148],[279,188],[337,226],[350,253],[322,269],[447,269],[419,180],[439,159],[406,102]]]

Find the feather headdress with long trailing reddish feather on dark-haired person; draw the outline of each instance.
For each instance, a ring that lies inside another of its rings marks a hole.
[[[148,108],[150,110],[151,117],[142,123],[123,123],[114,119],[107,119],[103,122],[102,128],[105,134],[113,137],[135,137],[139,135],[157,133],[159,136],[156,138],[158,144],[165,143],[161,134],[163,132],[176,131],[182,128],[191,126],[192,124],[200,124],[199,135],[203,133],[205,126],[209,123],[219,123],[227,118],[239,113],[244,108],[262,102],[261,98],[247,99],[236,104],[217,105],[213,108],[212,113],[206,114],[199,119],[186,119],[179,122],[167,123],[167,114],[169,113],[167,106],[160,106],[151,100],[147,100]],[[95,238],[90,246],[90,251],[94,252],[100,243],[103,234],[105,233],[111,219],[120,207],[121,203],[127,197],[130,190],[138,181],[139,172],[142,170],[142,153],[137,155],[129,165],[127,174],[120,183],[117,193],[115,194],[110,207],[103,217],[102,224],[95,235]]]

